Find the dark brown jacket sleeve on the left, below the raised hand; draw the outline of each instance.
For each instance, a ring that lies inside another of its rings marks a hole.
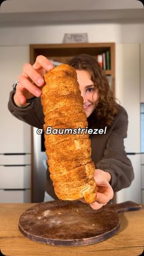
[[[43,129],[44,115],[40,98],[35,98],[26,108],[19,108],[13,101],[13,92],[10,92],[8,108],[16,118],[34,127]]]

